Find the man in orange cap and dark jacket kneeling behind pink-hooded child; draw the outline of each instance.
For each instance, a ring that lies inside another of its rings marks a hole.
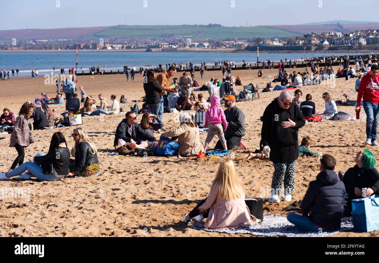
[[[241,139],[245,136],[245,114],[237,108],[236,99],[233,95],[228,95],[222,99],[227,108],[224,111],[228,123],[227,129],[224,131],[226,146],[229,150],[240,150],[242,149]],[[224,149],[220,140],[216,143],[215,149]]]

